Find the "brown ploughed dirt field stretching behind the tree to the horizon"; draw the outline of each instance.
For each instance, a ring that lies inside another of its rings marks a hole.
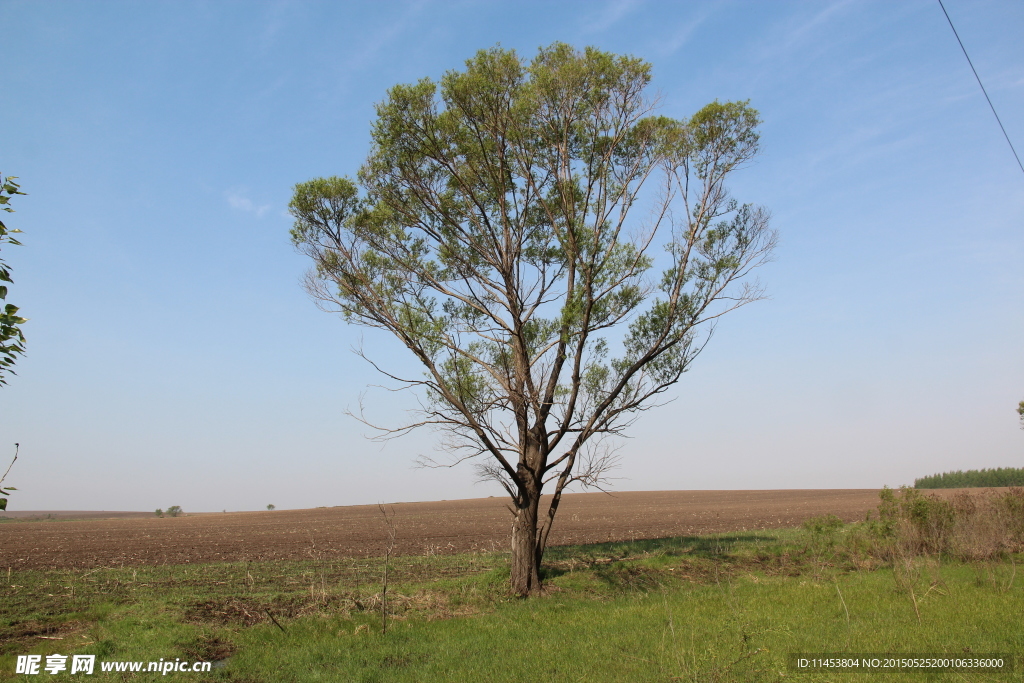
[[[551,538],[563,545],[779,528],[828,513],[854,521],[878,501],[873,489],[572,494],[562,500]],[[510,515],[500,498],[387,507],[395,512],[399,554],[508,544]],[[0,569],[359,557],[379,554],[385,538],[377,506],[7,522],[0,524]]]

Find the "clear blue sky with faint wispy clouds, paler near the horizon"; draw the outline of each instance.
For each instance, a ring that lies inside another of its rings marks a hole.
[[[1024,151],[1024,4],[947,0]],[[11,509],[186,511],[498,495],[419,433],[369,441],[360,395],[414,370],[299,286],[292,186],[354,174],[387,88],[501,43],[631,53],[662,113],[750,99],[732,182],[781,242],[770,299],[725,318],[622,443],[615,487],[876,487],[1024,465],[1024,174],[934,0],[0,1]],[[6,445],[4,445],[6,444]]]

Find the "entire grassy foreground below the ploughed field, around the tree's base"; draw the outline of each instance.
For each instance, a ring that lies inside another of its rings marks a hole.
[[[0,680],[17,654],[212,660],[210,673],[96,680],[843,681],[791,652],[1024,652],[1022,559],[886,559],[878,524],[551,549],[547,593],[506,593],[501,554],[12,572]],[[871,681],[1005,681],[872,674]],[[77,680],[80,674],[42,674]],[[34,677],[33,677],[34,678]]]

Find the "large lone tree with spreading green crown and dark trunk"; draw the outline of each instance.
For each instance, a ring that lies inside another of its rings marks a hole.
[[[357,180],[299,183],[290,204],[311,296],[423,366],[377,366],[422,390],[382,437],[431,425],[508,492],[521,596],[566,486],[600,486],[604,437],[761,298],[744,276],[775,245],[768,212],[725,187],[758,151],[757,112],[656,116],[649,82],[646,62],[594,48],[482,50],[439,84],[391,88]]]

